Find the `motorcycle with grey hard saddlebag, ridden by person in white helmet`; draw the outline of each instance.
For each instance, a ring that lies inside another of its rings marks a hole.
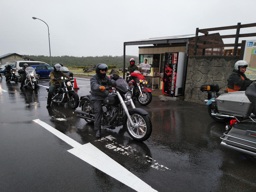
[[[208,98],[204,100],[208,105],[210,117],[217,122],[227,122],[229,120],[243,120],[256,114],[255,104],[250,102],[245,91],[229,92],[219,94],[218,84],[203,85],[201,92],[207,92]]]

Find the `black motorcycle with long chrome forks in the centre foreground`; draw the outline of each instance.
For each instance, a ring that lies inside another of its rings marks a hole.
[[[102,82],[105,86],[106,82]],[[148,112],[136,108],[132,101],[132,92],[126,80],[116,80],[116,88],[106,86],[105,90],[112,90],[104,98],[102,104],[102,127],[115,129],[118,126],[126,128],[128,134],[136,141],[147,140],[152,132],[152,123]],[[83,118],[87,123],[94,123],[94,107],[90,95],[80,98],[82,110],[75,110],[76,116]],[[131,106],[128,110],[127,106]]]

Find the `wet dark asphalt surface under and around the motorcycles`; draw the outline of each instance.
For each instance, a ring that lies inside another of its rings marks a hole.
[[[37,90],[0,78],[0,191],[135,191],[120,179],[71,154],[73,147],[33,120],[40,119],[81,145],[92,144],[159,192],[256,191],[256,164],[241,153],[220,146],[225,124],[214,122],[204,105],[161,102],[148,106],[152,135],[133,141],[118,127],[102,130],[77,118],[67,104],[46,109],[48,80]],[[90,82],[76,78],[78,96]],[[45,86],[45,87],[44,87]],[[78,108],[80,110],[80,108]],[[108,165],[106,165],[108,166]]]

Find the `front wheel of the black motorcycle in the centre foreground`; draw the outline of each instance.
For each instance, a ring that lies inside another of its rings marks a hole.
[[[131,125],[130,120],[126,119],[126,128],[128,134],[136,141],[147,140],[152,132],[152,123],[147,115],[142,115],[139,112],[132,112],[130,114],[134,126]]]

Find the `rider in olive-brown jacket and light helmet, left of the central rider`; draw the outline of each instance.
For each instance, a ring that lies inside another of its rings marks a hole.
[[[52,94],[54,92],[54,90],[60,85],[59,82],[54,81],[53,79],[58,79],[60,77],[66,77],[66,78],[70,78],[69,76],[67,76],[66,74],[64,74],[61,70],[60,70],[61,65],[58,63],[55,63],[53,65],[54,70],[50,72],[50,78],[51,78],[51,86],[49,88],[49,92],[48,92],[48,98],[47,98],[47,105],[46,108],[49,108],[51,106],[52,103]]]

